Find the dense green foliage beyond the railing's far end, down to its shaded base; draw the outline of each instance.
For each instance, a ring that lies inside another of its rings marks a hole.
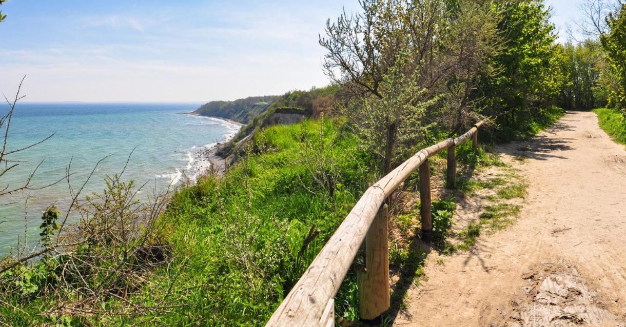
[[[493,136],[500,141],[527,138],[551,121],[567,76],[561,69],[563,52],[555,46],[550,10],[541,1],[493,2],[498,33],[503,39],[491,57],[495,76],[483,76],[474,91],[484,114],[511,111],[498,119]],[[562,50],[562,49],[561,49]]]

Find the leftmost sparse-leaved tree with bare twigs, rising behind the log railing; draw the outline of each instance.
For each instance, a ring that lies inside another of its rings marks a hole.
[[[334,83],[350,91],[351,118],[364,140],[391,171],[398,139],[416,136],[428,93],[421,87],[425,63],[431,63],[443,3],[438,0],[361,0],[362,13],[329,20],[319,43],[327,49],[324,69]],[[413,122],[411,126],[408,123]]]

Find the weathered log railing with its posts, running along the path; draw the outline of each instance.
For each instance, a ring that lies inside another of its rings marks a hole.
[[[508,111],[493,118],[506,113]],[[375,319],[389,309],[388,211],[385,199],[419,169],[421,238],[430,241],[433,223],[428,158],[448,149],[446,187],[456,188],[454,149],[470,137],[473,147],[477,149],[478,129],[485,122],[476,123],[458,138],[448,138],[421,149],[368,188],[265,326],[334,326],[334,297],[363,241],[366,243],[366,272],[359,278],[361,319]]]

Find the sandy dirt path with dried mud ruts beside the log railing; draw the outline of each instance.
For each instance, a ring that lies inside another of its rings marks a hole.
[[[530,184],[513,226],[429,259],[396,326],[626,326],[626,151],[573,112],[513,166]],[[436,255],[436,254],[433,254]]]

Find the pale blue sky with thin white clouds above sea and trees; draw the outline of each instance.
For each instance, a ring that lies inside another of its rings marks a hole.
[[[548,0],[560,41],[581,0]],[[0,93],[33,102],[197,102],[326,86],[326,20],[357,0],[9,0]]]

